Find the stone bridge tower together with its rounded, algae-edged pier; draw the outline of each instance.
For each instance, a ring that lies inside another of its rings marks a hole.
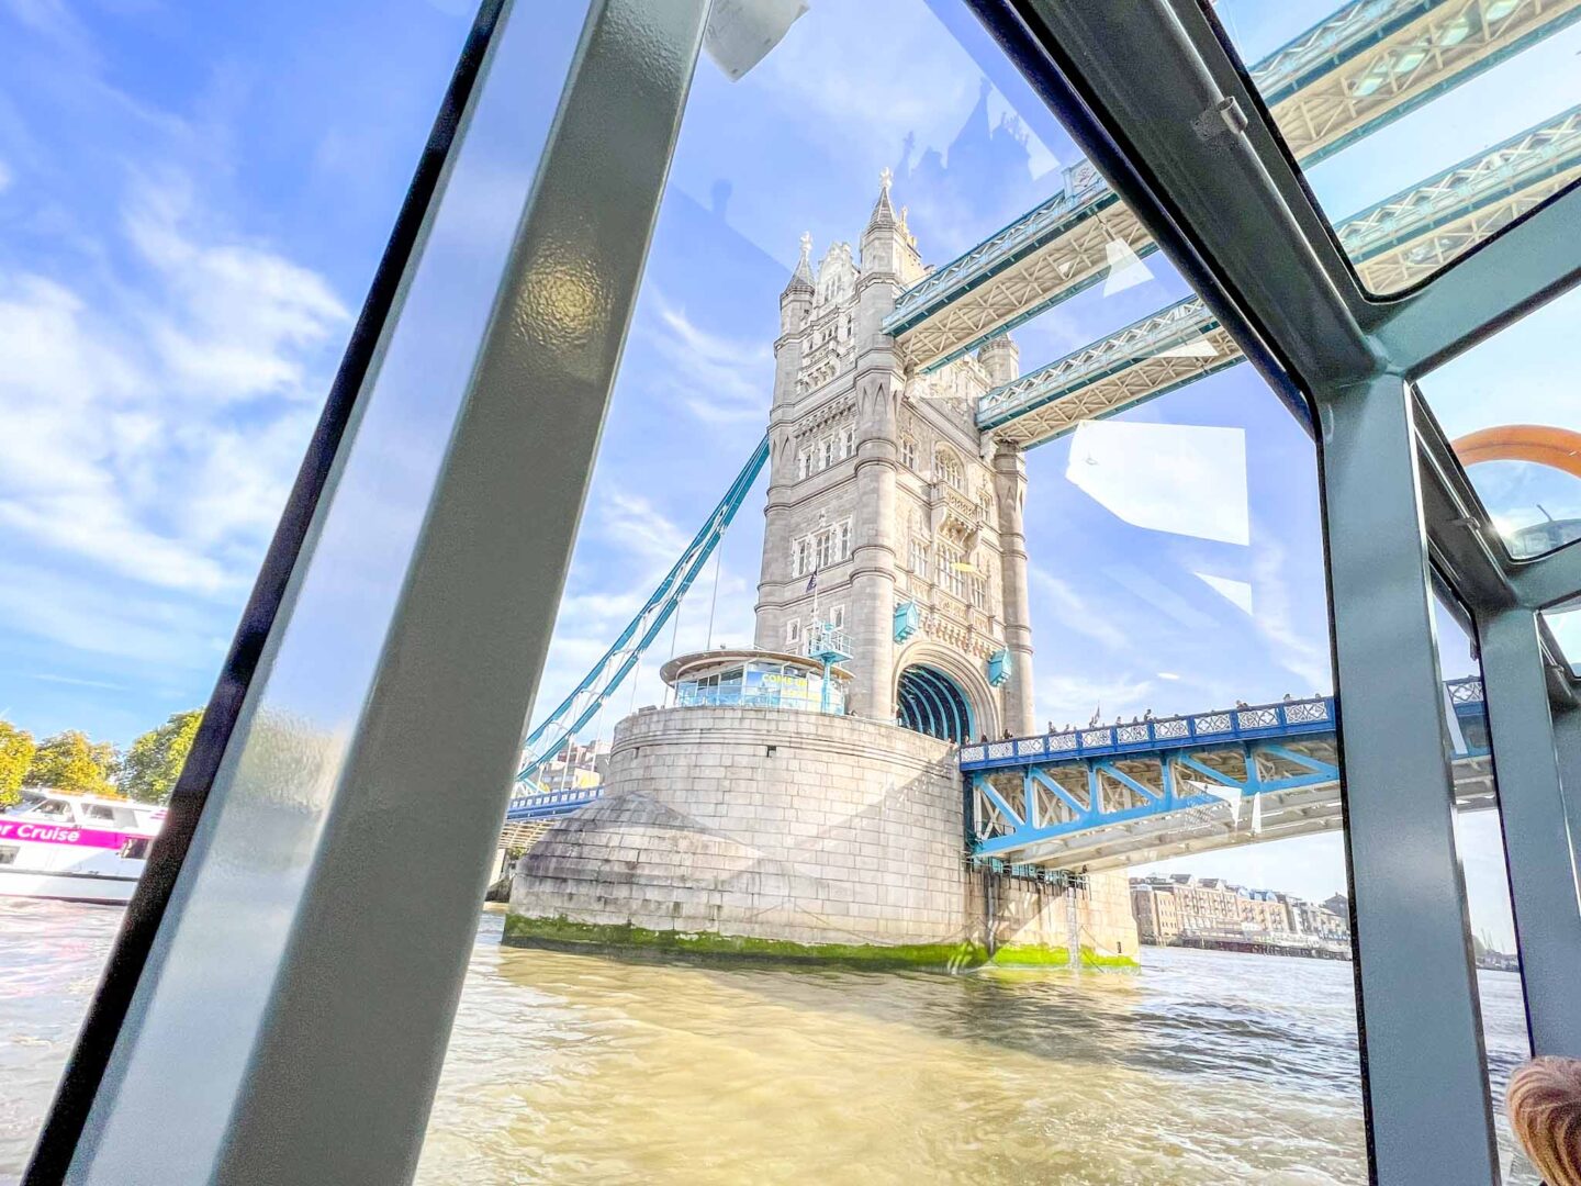
[[[677,704],[617,726],[604,794],[519,863],[506,942],[1135,961],[1123,871],[1078,887],[961,860],[961,772],[934,738],[1034,731],[1026,468],[972,416],[1015,378],[1015,343],[917,375],[884,334],[923,274],[885,174],[857,250],[814,272],[803,236],[779,299],[756,645],[805,656],[809,629],[844,634],[847,715],[723,694],[762,655],[670,659]],[[699,682],[683,697],[705,667],[718,702]]]

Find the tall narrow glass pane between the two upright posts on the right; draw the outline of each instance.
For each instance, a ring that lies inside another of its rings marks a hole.
[[[1455,750],[1455,848],[1466,881],[1467,936],[1477,958],[1477,995],[1481,1004],[1488,1086],[1499,1135],[1504,1181],[1540,1186],[1526,1162],[1504,1112],[1510,1072],[1532,1056],[1526,1023],[1526,995],[1510,909],[1510,863],[1504,848],[1499,783],[1488,746],[1481,664],[1470,636],[1434,601],[1439,664],[1445,678],[1443,720]]]

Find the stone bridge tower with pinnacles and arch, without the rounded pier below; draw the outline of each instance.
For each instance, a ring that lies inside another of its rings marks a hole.
[[[811,239],[779,297],[756,644],[851,640],[851,712],[949,740],[1029,734],[1020,449],[982,436],[977,397],[1018,375],[1009,335],[914,373],[882,326],[926,274],[890,176],[858,253]]]

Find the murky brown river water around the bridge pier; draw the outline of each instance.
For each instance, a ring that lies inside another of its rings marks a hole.
[[[0,900],[0,1183],[119,922]],[[1149,947],[1140,973],[789,971],[522,950],[500,927],[482,914],[425,1186],[1366,1181],[1345,963]],[[1502,1088],[1519,979],[1483,973],[1481,993]],[[1505,1180],[1537,1181],[1519,1159]]]

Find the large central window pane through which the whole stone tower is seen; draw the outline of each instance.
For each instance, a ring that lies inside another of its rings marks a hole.
[[[503,846],[421,1180],[1366,1181],[1314,446],[1240,361],[964,8],[705,59],[541,708],[768,473],[580,727],[601,795]],[[667,686],[792,620],[827,686]],[[977,745],[1051,759],[1010,846]]]

